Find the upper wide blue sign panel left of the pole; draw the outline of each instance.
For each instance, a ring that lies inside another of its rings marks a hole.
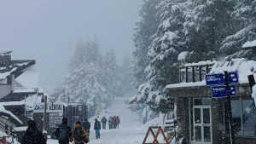
[[[223,73],[207,74],[206,82],[207,82],[207,85],[224,84],[224,74]]]

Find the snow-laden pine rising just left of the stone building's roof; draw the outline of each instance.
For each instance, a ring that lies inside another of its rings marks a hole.
[[[166,112],[167,84],[178,82],[177,55],[183,50],[185,0],[165,0],[159,5],[160,26],[148,51],[150,84],[148,105],[154,112]]]

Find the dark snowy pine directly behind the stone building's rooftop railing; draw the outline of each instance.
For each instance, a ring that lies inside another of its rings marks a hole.
[[[236,20],[230,15],[234,0],[192,1],[186,14],[184,33],[187,62],[218,57],[223,39],[236,31]]]

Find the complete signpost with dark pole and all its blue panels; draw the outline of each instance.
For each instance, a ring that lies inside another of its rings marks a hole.
[[[229,123],[230,123],[230,142],[235,144],[235,130],[232,124],[232,111],[231,111],[231,101],[230,96],[236,96],[236,85],[238,82],[237,72],[227,72],[217,73],[217,74],[207,74],[206,84],[212,88],[212,98],[227,98],[227,109],[229,113]]]

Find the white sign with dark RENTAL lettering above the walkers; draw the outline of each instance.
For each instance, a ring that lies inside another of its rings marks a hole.
[[[63,103],[47,103],[46,112],[63,112]],[[34,103],[33,112],[44,112],[44,102]]]

